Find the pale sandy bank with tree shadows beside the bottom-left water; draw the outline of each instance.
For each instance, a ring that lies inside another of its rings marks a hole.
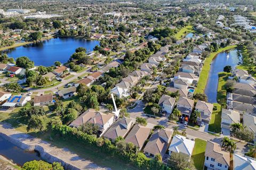
[[[7,123],[0,123],[0,137],[20,149],[37,151],[41,158],[49,163],[60,162],[65,169],[109,169],[100,167],[90,160],[83,159],[68,149],[57,148],[46,141],[18,132]]]

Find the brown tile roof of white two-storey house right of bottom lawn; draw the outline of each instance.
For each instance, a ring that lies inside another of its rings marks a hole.
[[[229,166],[230,153],[222,150],[218,143],[207,141],[204,155],[214,158],[215,162]]]

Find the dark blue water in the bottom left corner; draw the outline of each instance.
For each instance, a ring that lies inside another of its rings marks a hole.
[[[25,151],[13,145],[0,136],[0,155],[13,161],[13,163],[22,166],[24,163],[31,160],[41,160],[39,155],[33,151]]]

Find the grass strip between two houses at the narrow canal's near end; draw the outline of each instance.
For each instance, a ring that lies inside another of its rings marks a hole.
[[[213,113],[212,113],[211,121],[209,123],[208,130],[210,132],[220,133],[221,132],[221,127],[220,127],[220,123],[221,123],[221,105],[218,104],[218,103],[214,103],[213,106],[214,106]]]

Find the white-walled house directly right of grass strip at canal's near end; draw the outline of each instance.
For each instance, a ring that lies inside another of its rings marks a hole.
[[[230,135],[230,125],[232,123],[240,123],[240,113],[222,108],[221,111],[221,133]]]

